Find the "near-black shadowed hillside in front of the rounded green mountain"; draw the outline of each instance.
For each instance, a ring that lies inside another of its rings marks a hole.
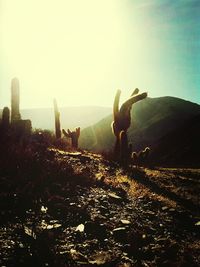
[[[160,165],[200,166],[200,115],[162,137],[154,145],[152,161]],[[166,164],[167,163],[167,164]]]

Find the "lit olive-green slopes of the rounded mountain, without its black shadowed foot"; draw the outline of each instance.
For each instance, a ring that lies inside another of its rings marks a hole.
[[[184,123],[187,125],[190,119],[200,115],[200,105],[176,97],[147,98],[134,104],[131,114],[129,141],[132,143],[133,151],[140,151],[146,146],[154,149],[164,136],[183,127]],[[80,146],[98,152],[112,150],[115,142],[111,131],[112,120],[112,115],[109,115],[83,129]]]

